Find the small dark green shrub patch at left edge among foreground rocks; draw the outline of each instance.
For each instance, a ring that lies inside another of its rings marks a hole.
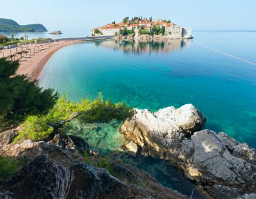
[[[11,157],[0,157],[0,184],[24,166],[25,161]]]

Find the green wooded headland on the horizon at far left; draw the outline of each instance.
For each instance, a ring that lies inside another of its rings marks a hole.
[[[12,19],[0,18],[0,32],[46,32],[42,24],[20,25]]]

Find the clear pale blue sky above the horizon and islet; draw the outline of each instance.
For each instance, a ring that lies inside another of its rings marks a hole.
[[[256,30],[255,0],[12,0],[0,5],[1,18],[43,24],[48,30],[90,30],[138,15],[193,30]]]

